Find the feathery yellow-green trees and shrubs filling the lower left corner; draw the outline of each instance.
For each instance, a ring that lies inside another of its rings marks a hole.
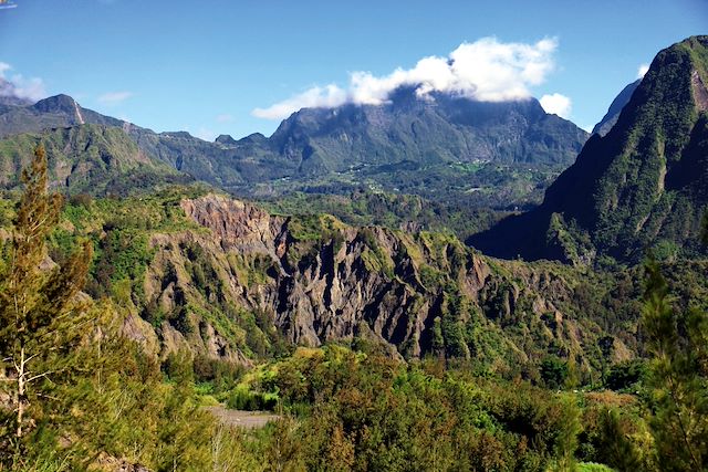
[[[42,147],[22,179],[27,190],[0,251],[0,469],[85,470],[111,461],[201,469],[212,422],[190,385],[164,382],[155,360],[117,334],[121,311],[110,300],[79,296],[91,240],[64,263],[40,266],[61,206],[46,193]]]

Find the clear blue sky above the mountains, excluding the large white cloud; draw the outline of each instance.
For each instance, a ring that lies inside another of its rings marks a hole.
[[[708,33],[706,0],[13,1],[0,10],[6,78],[28,94],[66,93],[140,126],[207,138],[270,135],[279,120],[259,116],[279,115],[274,104],[347,99],[352,73],[379,84],[396,67],[489,36],[504,48],[551,41],[546,69],[522,85],[570,98],[570,119],[590,127],[656,52]]]

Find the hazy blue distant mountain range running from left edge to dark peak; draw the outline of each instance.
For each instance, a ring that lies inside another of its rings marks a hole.
[[[534,204],[570,165],[587,134],[538,101],[482,103],[399,90],[381,106],[302,109],[267,138],[207,143],[154,133],[83,108],[65,95],[0,109],[0,136],[101,124],[122,127],[149,156],[249,197],[358,187],[472,206]]]

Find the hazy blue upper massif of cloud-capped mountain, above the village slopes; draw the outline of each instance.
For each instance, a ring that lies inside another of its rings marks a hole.
[[[384,105],[305,108],[269,144],[301,172],[404,160],[571,164],[587,134],[534,98],[477,102],[446,94],[420,99],[398,90]]]

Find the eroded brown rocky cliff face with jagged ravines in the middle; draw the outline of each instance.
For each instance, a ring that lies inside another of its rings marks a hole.
[[[248,361],[277,336],[310,346],[365,339],[404,357],[518,369],[549,347],[584,365],[598,332],[575,318],[571,280],[489,260],[449,235],[270,216],[214,195],[180,207],[202,229],[154,234],[145,279],[146,298],[171,314],[160,329],[168,350]]]

